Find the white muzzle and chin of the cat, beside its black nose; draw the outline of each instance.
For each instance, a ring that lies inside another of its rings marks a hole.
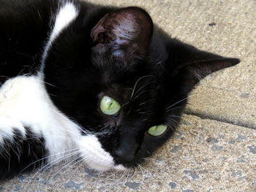
[[[113,157],[102,148],[99,139],[95,135],[83,136],[78,141],[78,146],[80,147],[81,157],[91,169],[100,172],[106,172],[112,169],[118,171],[127,169],[121,164],[115,165]]]

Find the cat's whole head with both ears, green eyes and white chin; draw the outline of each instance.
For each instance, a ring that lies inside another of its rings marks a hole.
[[[238,62],[170,39],[138,7],[99,9],[80,12],[56,38],[45,82],[56,107],[80,126],[86,164],[124,169],[170,138],[200,79]]]

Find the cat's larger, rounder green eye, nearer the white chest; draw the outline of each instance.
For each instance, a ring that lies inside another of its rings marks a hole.
[[[120,109],[121,107],[118,101],[109,96],[103,96],[100,101],[100,110],[102,110],[105,115],[115,115]]]

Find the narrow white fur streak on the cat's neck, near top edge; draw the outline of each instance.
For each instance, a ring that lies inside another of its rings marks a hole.
[[[70,23],[72,23],[75,18],[78,17],[78,8],[75,7],[75,4],[72,4],[71,2],[67,2],[66,4],[62,5],[59,9],[58,14],[55,18],[55,23],[53,26],[53,30],[51,31],[49,40],[45,46],[45,51],[42,55],[42,66],[41,69],[43,69],[45,64],[45,59],[47,58],[48,51],[50,50],[51,45],[56,40],[56,38],[61,34],[61,31],[63,31],[67,26],[69,26]]]

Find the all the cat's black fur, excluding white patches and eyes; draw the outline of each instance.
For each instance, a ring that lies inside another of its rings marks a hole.
[[[170,138],[196,83],[239,62],[197,50],[157,26],[153,29],[148,13],[138,7],[119,9],[80,1],[75,1],[78,17],[61,31],[43,58],[59,4],[57,0],[0,0],[0,83],[42,70],[53,104],[83,128],[80,134],[99,134],[102,148],[115,164],[133,166],[151,155]],[[127,27],[120,26],[120,20],[135,22]],[[114,31],[118,27],[124,31]],[[100,112],[104,95],[122,105],[118,115]],[[160,124],[168,126],[165,134],[147,133]],[[14,140],[0,143],[0,180],[48,155],[43,133],[35,138],[33,127],[26,131],[31,139],[22,139],[15,129]],[[7,147],[9,142],[13,147]]]

